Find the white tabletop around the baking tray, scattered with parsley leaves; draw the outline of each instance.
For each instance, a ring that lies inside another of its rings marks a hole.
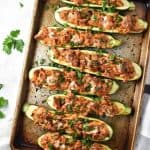
[[[24,4],[23,8],[20,7],[19,2]],[[0,120],[0,150],[9,150],[12,117],[25,54],[25,50],[23,53],[14,50],[11,55],[6,55],[1,51],[2,41],[9,31],[20,29],[20,37],[26,43],[33,4],[34,0],[0,0],[0,83],[4,84],[4,88],[0,90],[0,96],[9,100],[8,108],[3,110],[7,114],[6,118]],[[147,78],[147,83],[150,84],[150,78]],[[136,150],[150,150],[150,118],[148,116],[150,97],[148,95],[145,95],[144,104],[142,127]]]

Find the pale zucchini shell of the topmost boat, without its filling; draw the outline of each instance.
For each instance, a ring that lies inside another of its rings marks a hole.
[[[90,3],[90,2],[85,2],[82,4],[76,4],[75,2],[72,2],[71,0],[61,0],[62,2],[69,4],[69,5],[73,5],[73,6],[82,6],[82,7],[91,7],[91,8],[102,8],[103,5],[99,5],[99,4],[94,4],[94,3]],[[130,9],[130,10],[134,10],[135,9],[135,4],[133,2],[129,2],[127,0],[121,0],[121,2],[123,3],[123,6],[116,6],[115,9],[117,10],[126,10],[126,9]],[[113,5],[112,5],[113,6]],[[106,5],[106,8],[111,7],[111,5]]]

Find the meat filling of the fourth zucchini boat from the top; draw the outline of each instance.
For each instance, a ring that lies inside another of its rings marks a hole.
[[[89,70],[108,78],[121,77],[124,81],[128,81],[135,75],[133,64],[129,59],[119,58],[113,54],[104,55],[96,52],[91,54],[71,49],[53,49],[53,54],[59,61],[64,61],[73,67],[78,67],[81,71]],[[85,80],[88,79],[86,78]],[[101,87],[97,86],[96,88],[97,90],[101,89]]]

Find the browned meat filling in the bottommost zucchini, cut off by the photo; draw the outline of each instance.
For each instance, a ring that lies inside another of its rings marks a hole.
[[[105,150],[104,146],[98,143],[91,143],[90,146],[85,145],[80,140],[71,140],[66,138],[64,135],[60,135],[59,133],[47,133],[44,137],[41,138],[40,141],[44,150],[50,150],[50,147],[53,150],[62,149],[62,150]]]

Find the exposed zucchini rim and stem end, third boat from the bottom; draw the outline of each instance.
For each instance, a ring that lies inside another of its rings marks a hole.
[[[54,109],[54,110],[57,110],[57,108],[53,105],[54,104],[54,98],[55,97],[62,97],[62,98],[64,98],[64,97],[66,97],[66,95],[64,95],[64,94],[54,94],[54,95],[51,95],[51,96],[49,96],[48,97],[48,99],[47,99],[47,103],[48,103],[48,105],[52,108],[52,109]],[[77,97],[77,98],[85,98],[87,101],[94,101],[92,98],[90,98],[90,97],[86,97],[86,96],[81,96],[81,95],[75,95],[75,97]],[[99,98],[100,99],[100,98]],[[100,99],[100,100],[103,100],[103,98],[102,99]],[[116,116],[118,116],[118,115],[129,115],[129,114],[131,114],[131,108],[130,107],[128,107],[128,106],[126,106],[126,105],[124,105],[123,103],[120,103],[119,101],[112,101],[112,103],[120,110],[120,112],[118,113],[118,114],[116,114]],[[58,110],[59,111],[59,110]],[[106,116],[107,116],[107,114],[106,114]]]

